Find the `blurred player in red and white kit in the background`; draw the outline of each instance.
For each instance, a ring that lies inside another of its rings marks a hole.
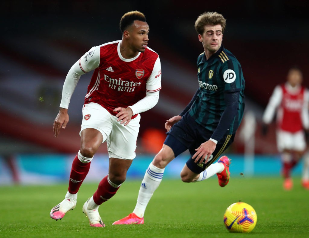
[[[302,71],[296,66],[291,67],[286,83],[275,87],[263,115],[262,134],[266,135],[268,125],[277,112],[277,148],[281,153],[283,187],[286,190],[293,187],[291,170],[306,150],[305,132],[309,129],[309,94],[301,85],[302,81]],[[304,173],[302,184],[309,189],[308,172]]]

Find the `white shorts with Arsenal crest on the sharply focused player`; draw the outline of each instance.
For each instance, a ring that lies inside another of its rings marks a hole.
[[[102,133],[103,142],[107,141],[109,158],[134,159],[139,131],[140,114],[126,126],[117,121],[117,117],[109,113],[97,103],[83,106],[81,132],[86,128],[94,128]]]

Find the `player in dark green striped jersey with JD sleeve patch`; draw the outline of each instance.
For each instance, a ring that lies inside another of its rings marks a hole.
[[[164,168],[187,149],[191,157],[180,173],[182,181],[197,182],[217,174],[221,187],[229,182],[230,159],[222,156],[214,161],[231,145],[242,120],[245,81],[239,62],[222,45],[225,27],[226,20],[217,12],[197,18],[195,29],[204,48],[197,58],[199,88],[184,111],[165,123],[167,137],[146,170],[133,213],[113,224],[144,223],[146,206]]]

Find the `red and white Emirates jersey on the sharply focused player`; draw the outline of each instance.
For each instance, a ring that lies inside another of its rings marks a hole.
[[[94,70],[88,85],[85,104],[102,105],[112,115],[116,107],[132,106],[147,92],[161,89],[161,63],[159,55],[150,48],[131,59],[120,53],[121,40],[95,46],[79,59],[84,73]],[[136,117],[134,115],[134,117]]]

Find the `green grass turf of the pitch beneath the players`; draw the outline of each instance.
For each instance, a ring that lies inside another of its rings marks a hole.
[[[221,188],[215,178],[185,184],[163,180],[147,207],[144,225],[112,226],[132,212],[141,181],[126,181],[118,193],[100,206],[104,228],[90,227],[83,203],[96,184],[83,184],[78,203],[61,221],[49,211],[62,200],[67,185],[0,187],[0,237],[309,237],[309,191],[294,179],[292,191],[281,178],[232,178]],[[249,234],[229,233],[225,209],[247,202],[258,221]]]

